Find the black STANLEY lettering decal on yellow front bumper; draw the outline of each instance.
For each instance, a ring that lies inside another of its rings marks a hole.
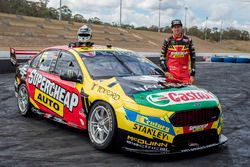
[[[152,129],[152,128],[147,127],[147,126],[143,126],[143,125],[135,123],[133,129],[137,130],[139,132],[148,134],[156,139],[160,139],[160,140],[164,140],[164,141],[168,140],[168,134],[163,133],[159,130]]]

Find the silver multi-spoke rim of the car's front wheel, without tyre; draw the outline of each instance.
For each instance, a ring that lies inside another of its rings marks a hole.
[[[112,121],[109,109],[98,106],[96,107],[89,119],[89,132],[91,138],[97,144],[103,144],[112,130]]]

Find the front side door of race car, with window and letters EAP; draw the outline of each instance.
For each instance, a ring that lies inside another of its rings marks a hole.
[[[54,76],[51,80],[61,87],[61,93],[59,101],[63,103],[63,119],[70,124],[70,126],[76,126],[77,128],[86,128],[86,116],[82,111],[81,101],[81,88],[82,83],[66,81],[61,79],[61,75],[64,75],[68,71],[74,71],[77,76],[83,78],[82,70],[75,58],[75,56],[68,51],[61,51],[55,68],[53,70]]]

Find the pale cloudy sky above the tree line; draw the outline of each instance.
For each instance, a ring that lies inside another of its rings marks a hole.
[[[122,23],[134,26],[158,26],[159,3],[161,27],[170,26],[172,19],[185,20],[187,27],[234,27],[250,31],[250,0],[122,0]],[[119,23],[120,0],[62,0],[73,14],[84,18],[98,17],[104,22]],[[58,8],[59,0],[49,0],[49,7]]]

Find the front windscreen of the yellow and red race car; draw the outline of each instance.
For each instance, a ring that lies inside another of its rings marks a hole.
[[[135,75],[164,75],[158,66],[134,52],[95,51],[81,52],[80,55],[94,79]]]

